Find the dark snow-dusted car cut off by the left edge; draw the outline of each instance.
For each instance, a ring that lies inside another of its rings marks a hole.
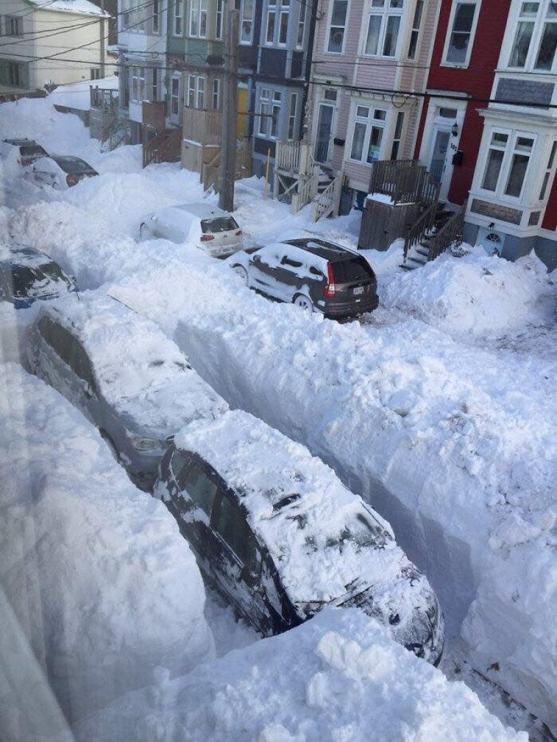
[[[39,299],[75,290],[74,281],[45,252],[26,245],[0,247],[0,301],[27,309]]]

